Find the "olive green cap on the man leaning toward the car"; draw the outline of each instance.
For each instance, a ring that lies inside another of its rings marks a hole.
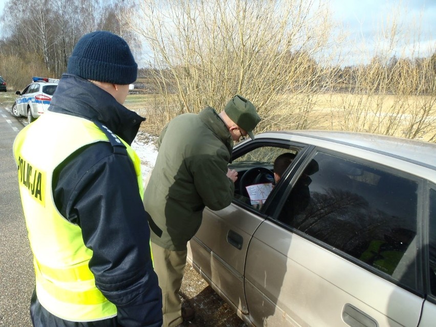
[[[254,140],[253,129],[260,121],[260,117],[253,103],[240,95],[235,95],[227,102],[224,112]]]

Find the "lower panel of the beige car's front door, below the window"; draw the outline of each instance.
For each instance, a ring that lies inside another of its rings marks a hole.
[[[232,203],[223,210],[205,209],[203,222],[189,242],[191,264],[234,310],[247,314],[244,266],[251,236],[264,219]]]

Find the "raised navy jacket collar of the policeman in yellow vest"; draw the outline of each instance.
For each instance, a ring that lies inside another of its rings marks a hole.
[[[132,144],[145,118],[139,116],[89,80],[63,74],[49,111],[98,120],[128,144]]]

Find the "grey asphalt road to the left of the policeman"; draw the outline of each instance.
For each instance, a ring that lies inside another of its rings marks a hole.
[[[21,120],[0,108],[0,326],[32,326],[29,303],[35,285],[32,253],[12,155]]]

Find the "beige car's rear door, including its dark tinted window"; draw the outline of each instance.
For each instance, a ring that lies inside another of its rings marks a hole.
[[[288,175],[290,187],[275,194],[270,218],[250,242],[245,294],[252,323],[417,326],[422,182],[322,149],[305,165]]]

